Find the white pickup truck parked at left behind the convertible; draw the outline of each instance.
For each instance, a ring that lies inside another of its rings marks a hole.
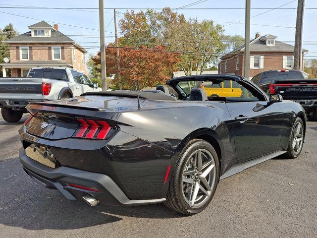
[[[26,77],[0,78],[2,118],[17,122],[31,101],[68,99],[85,92],[101,91],[83,73],[66,67],[34,67]]]

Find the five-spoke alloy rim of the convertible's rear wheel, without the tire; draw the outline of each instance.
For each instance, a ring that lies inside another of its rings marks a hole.
[[[198,149],[187,160],[182,174],[185,201],[192,207],[202,206],[215,185],[215,163],[206,149]]]

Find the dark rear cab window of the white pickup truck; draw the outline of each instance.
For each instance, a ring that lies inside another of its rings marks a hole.
[[[28,76],[31,78],[50,78],[68,81],[66,70],[58,68],[31,69]]]

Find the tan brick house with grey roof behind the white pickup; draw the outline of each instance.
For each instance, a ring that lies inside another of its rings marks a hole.
[[[85,53],[87,51],[74,40],[45,21],[28,26],[29,32],[6,41],[10,49],[10,62],[1,63],[3,77],[6,69],[12,77],[26,76],[36,66],[62,66],[86,73]]]

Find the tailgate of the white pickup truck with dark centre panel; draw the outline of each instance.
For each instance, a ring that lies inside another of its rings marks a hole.
[[[0,78],[0,99],[42,99],[42,78]]]

